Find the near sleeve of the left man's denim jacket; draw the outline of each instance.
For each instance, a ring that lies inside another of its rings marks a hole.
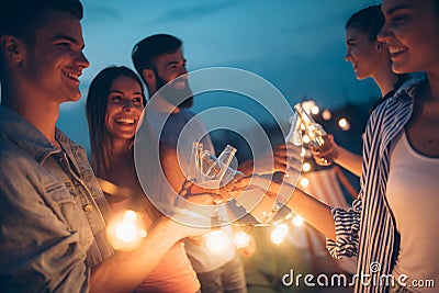
[[[0,165],[0,291],[88,292],[86,248],[63,219],[77,204],[61,183],[42,182],[35,165],[4,157]]]

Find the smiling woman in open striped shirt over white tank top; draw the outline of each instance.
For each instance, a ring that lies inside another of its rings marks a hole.
[[[290,196],[288,205],[327,236],[334,257],[358,256],[356,292],[437,292],[439,0],[383,0],[382,11],[379,41],[389,47],[392,69],[425,71],[427,79],[403,87],[372,113],[352,209],[329,207],[258,176],[251,184]]]

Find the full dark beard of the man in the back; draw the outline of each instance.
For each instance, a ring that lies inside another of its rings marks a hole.
[[[160,95],[177,108],[191,108],[193,105],[193,92],[185,81],[184,89],[176,89],[172,82],[166,86],[168,82],[164,80],[156,70],[154,70],[156,76],[156,89],[160,91]],[[178,78],[177,78],[178,79]],[[165,87],[166,86],[166,87]]]

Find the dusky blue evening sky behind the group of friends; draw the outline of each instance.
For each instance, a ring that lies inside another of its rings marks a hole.
[[[320,113],[324,109],[333,113],[324,126],[331,133],[337,132],[335,135],[341,145],[360,151],[357,132],[363,129],[369,105],[380,93],[372,80],[358,81],[351,65],[345,61],[345,23],[353,12],[376,1],[82,2],[85,54],[90,67],[81,77],[82,100],[61,106],[58,127],[87,149],[85,98],[92,78],[110,65],[134,68],[131,60],[134,44],[150,34],[169,33],[183,41],[188,70],[216,66],[239,68],[271,82],[292,105],[313,100]],[[195,98],[193,111],[216,105],[249,112],[267,129],[279,126],[272,125],[263,109],[227,93],[212,99]],[[337,126],[340,117],[349,120],[349,131],[340,132]],[[243,132],[251,132],[246,127],[243,125]],[[222,136],[213,134],[218,146]],[[237,147],[238,158],[248,156]]]

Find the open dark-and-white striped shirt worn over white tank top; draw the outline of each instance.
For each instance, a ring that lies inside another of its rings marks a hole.
[[[385,196],[391,142],[408,122],[419,84],[419,80],[407,82],[373,111],[365,128],[358,200],[349,211],[333,209],[337,239],[328,239],[327,248],[335,258],[358,256],[360,278],[356,279],[354,292],[387,291],[380,277],[392,273],[398,250],[398,235]],[[362,282],[361,275],[370,277]]]

